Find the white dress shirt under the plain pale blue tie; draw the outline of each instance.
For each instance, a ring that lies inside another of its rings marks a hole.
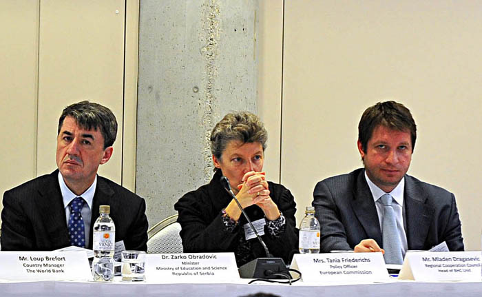
[[[408,249],[407,235],[405,233],[405,228],[404,228],[405,177],[401,178],[400,183],[390,193],[384,192],[384,190],[381,190],[377,185],[375,185],[375,183],[370,181],[370,178],[368,178],[368,175],[366,175],[366,171],[365,171],[365,178],[366,178],[366,183],[368,183],[368,187],[370,188],[370,192],[372,192],[373,200],[375,201],[375,206],[377,207],[378,221],[380,223],[380,229],[382,233],[384,232],[382,227],[383,218],[384,218],[384,205],[381,203],[381,201],[379,201],[379,198],[381,198],[381,196],[384,196],[384,194],[390,194],[390,196],[392,196],[394,200],[394,202],[392,203],[392,207],[393,207],[393,211],[395,212],[395,218],[397,219],[397,230],[400,237],[402,256],[405,256],[405,253]]]

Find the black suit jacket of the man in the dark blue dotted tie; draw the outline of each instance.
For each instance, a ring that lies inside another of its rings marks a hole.
[[[50,251],[70,245],[58,179],[59,170],[39,176],[3,194],[1,212],[2,251]],[[91,228],[99,205],[110,205],[116,225],[116,241],[126,249],[147,250],[145,201],[107,178],[97,176]],[[89,249],[92,249],[92,230]]]

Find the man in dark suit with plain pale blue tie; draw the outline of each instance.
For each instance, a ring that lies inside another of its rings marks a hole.
[[[463,250],[454,195],[406,174],[417,139],[410,110],[377,103],[358,130],[364,169],[326,178],[313,193],[321,252],[384,252],[386,263],[401,264],[407,250],[443,241],[451,251]]]

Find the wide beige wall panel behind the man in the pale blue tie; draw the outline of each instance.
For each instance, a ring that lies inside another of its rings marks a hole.
[[[480,249],[482,3],[285,5],[281,181],[299,209],[317,181],[362,166],[363,110],[396,99],[419,127],[408,174],[455,194],[465,247]]]

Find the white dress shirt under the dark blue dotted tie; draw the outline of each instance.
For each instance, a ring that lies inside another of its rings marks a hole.
[[[76,197],[82,197],[85,200],[84,206],[82,207],[81,214],[84,221],[85,227],[85,247],[89,246],[89,236],[90,236],[90,221],[92,217],[92,201],[94,201],[94,194],[96,192],[97,186],[97,175],[94,179],[94,183],[90,185],[90,187],[85,190],[81,195],[74,194],[67,185],[65,185],[65,181],[63,180],[62,174],[59,172],[59,185],[61,187],[61,193],[63,198],[63,207],[65,207],[65,218],[67,225],[69,225],[69,218],[70,218],[70,202],[74,200]]]

